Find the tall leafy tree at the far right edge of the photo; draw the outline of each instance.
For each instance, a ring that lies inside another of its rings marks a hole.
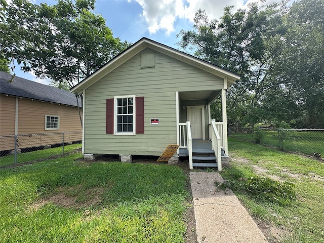
[[[289,31],[276,60],[277,78],[292,92],[298,127],[324,128],[324,1],[301,0],[284,17]]]

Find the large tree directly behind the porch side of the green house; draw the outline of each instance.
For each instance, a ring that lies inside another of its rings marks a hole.
[[[283,16],[288,12],[285,3],[250,4],[235,13],[232,7],[226,7],[220,20],[210,21],[205,11],[199,10],[194,31],[179,33],[183,49],[189,48],[194,55],[240,74],[241,79],[227,90],[230,124],[289,121],[298,115],[290,110],[297,109],[293,93],[289,85],[283,85],[282,77],[278,78],[277,69],[288,32]]]

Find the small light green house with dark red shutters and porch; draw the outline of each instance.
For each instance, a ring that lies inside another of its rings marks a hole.
[[[177,144],[173,159],[188,156],[190,169],[221,170],[221,156],[228,154],[225,91],[237,79],[231,71],[142,38],[71,89],[84,97],[83,153],[159,156]],[[215,123],[210,105],[219,96],[223,120]]]

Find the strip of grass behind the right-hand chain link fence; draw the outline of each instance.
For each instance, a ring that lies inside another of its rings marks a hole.
[[[312,153],[320,153],[324,156],[324,132],[323,131],[293,131],[279,130],[261,131],[261,144],[278,148],[282,151],[291,151],[311,155]],[[235,131],[231,133],[231,137],[254,142],[256,134],[245,133],[237,134]]]

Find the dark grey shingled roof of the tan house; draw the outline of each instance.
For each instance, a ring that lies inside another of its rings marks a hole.
[[[66,90],[39,84],[34,81],[17,76],[15,76],[12,83],[8,83],[11,77],[11,74],[0,71],[1,94],[77,106],[75,95]],[[82,106],[80,99],[79,106]]]

